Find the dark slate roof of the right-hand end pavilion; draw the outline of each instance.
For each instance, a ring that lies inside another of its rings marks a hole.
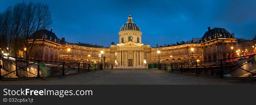
[[[234,33],[230,34],[225,28],[213,28],[208,27],[208,31],[205,32],[201,39],[201,43],[216,39],[216,38],[235,38]]]

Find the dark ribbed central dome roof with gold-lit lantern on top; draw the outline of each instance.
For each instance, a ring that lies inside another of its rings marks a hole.
[[[121,26],[121,28],[120,28],[120,32],[121,32],[121,31],[125,31],[125,30],[137,30],[137,31],[141,31],[140,27],[139,27],[138,25],[136,25],[135,23],[133,23],[131,15],[129,15],[127,23],[125,23],[125,24],[124,24],[123,26]]]

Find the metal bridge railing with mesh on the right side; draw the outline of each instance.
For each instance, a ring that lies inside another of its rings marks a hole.
[[[228,59],[198,62],[160,63],[158,69],[212,77],[237,77],[256,79],[255,54]],[[168,68],[168,65],[170,66]]]

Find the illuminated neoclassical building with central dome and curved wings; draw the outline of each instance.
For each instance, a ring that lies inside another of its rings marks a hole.
[[[203,35],[199,43],[191,41],[175,46],[150,47],[141,39],[142,31],[132,17],[119,30],[119,43],[111,43],[110,48],[86,43],[68,43],[65,38],[58,39],[54,32],[41,30],[37,32],[32,59],[61,62],[117,64],[121,68],[144,68],[151,63],[191,62],[225,59],[235,56],[238,49],[234,33],[224,28],[213,28]],[[231,49],[234,48],[234,49]],[[69,49],[69,50],[68,50]],[[191,50],[193,49],[193,51]],[[160,53],[158,53],[158,50]],[[103,54],[100,52],[104,51]]]

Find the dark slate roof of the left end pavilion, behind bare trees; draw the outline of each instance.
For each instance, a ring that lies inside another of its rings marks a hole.
[[[46,39],[46,40],[52,41],[54,43],[60,44],[60,39],[58,39],[58,37],[55,35],[55,33],[52,31],[49,31],[47,29],[38,30],[38,31],[34,32],[29,37],[29,39],[33,39],[34,35],[35,35],[35,39]]]

